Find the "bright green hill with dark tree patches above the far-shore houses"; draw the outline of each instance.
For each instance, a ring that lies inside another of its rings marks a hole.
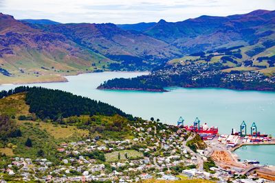
[[[268,42],[250,46],[228,47],[214,51],[193,53],[190,56],[170,60],[167,64],[221,63],[230,71],[260,71],[267,76],[275,73],[275,46]]]

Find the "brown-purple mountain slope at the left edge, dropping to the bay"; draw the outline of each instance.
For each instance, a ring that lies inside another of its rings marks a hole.
[[[43,75],[66,75],[85,71],[100,61],[107,64],[110,60],[77,45],[63,34],[43,32],[13,16],[0,14],[1,69],[12,77],[28,80]],[[4,79],[12,81],[12,78]]]

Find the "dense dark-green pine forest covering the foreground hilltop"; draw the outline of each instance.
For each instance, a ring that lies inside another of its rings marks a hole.
[[[81,114],[102,114],[130,117],[118,108],[101,101],[80,97],[61,90],[46,88],[30,88],[26,95],[26,103],[30,112],[35,112],[41,119],[62,119],[63,117],[79,116]]]

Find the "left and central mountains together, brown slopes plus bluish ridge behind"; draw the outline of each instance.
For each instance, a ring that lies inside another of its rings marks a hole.
[[[162,40],[111,23],[48,25],[0,14],[0,71],[5,75],[0,83],[2,77],[12,82],[8,76],[37,80],[108,68],[148,69],[178,56],[180,51]]]

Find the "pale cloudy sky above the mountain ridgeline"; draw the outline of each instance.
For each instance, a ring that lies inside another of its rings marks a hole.
[[[15,19],[61,23],[175,22],[259,9],[275,10],[275,0],[0,0],[0,12]]]

